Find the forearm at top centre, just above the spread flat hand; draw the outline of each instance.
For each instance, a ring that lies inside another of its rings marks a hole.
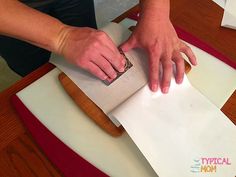
[[[141,13],[140,20],[155,20],[169,19],[170,0],[140,0]]]

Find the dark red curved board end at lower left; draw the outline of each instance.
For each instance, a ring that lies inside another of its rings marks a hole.
[[[16,95],[11,102],[35,142],[65,177],[108,177],[52,134]]]

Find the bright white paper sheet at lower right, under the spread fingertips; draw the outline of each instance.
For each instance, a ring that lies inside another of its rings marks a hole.
[[[167,95],[145,86],[112,115],[160,177],[236,175],[235,125],[187,78],[182,85],[172,82]],[[230,165],[206,164],[212,158]]]

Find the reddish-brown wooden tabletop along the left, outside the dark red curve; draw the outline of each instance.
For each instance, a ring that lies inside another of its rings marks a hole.
[[[45,64],[0,93],[0,176],[61,177],[31,138],[10,103],[10,97],[54,68]]]

